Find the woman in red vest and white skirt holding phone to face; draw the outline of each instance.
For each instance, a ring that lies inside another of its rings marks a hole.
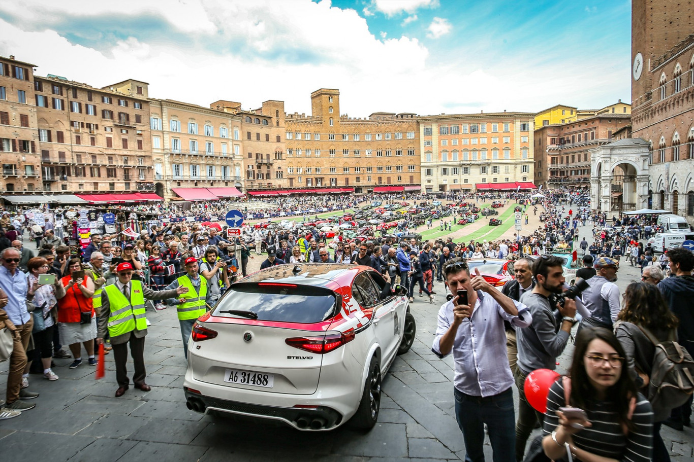
[[[74,361],[70,368],[82,364],[81,346],[85,346],[89,355],[90,366],[96,366],[94,357],[94,339],[96,339],[96,312],[92,305],[94,282],[85,277],[79,258],[70,258],[67,262],[70,271],[60,282],[65,287],[65,296],[58,300],[58,332],[60,343],[70,346]]]

